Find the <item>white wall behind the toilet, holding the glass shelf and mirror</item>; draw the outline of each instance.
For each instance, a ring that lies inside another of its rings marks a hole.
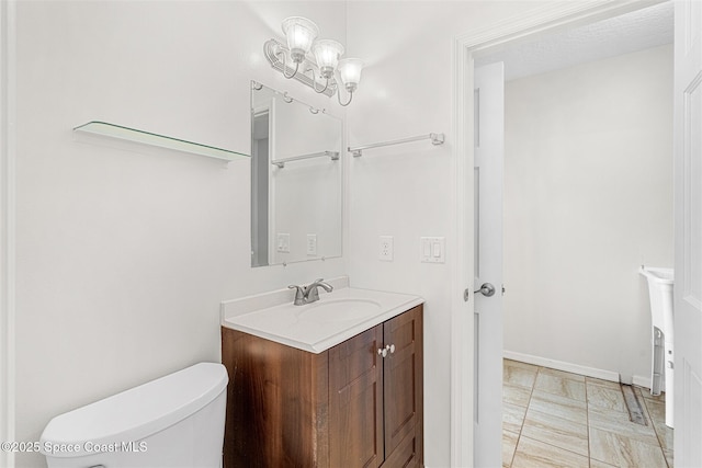
[[[293,14],[346,41],[338,2],[19,2],[18,441],[38,441],[61,412],[219,361],[220,300],[346,273],[344,260],[250,267],[248,160],[71,132],[104,119],[249,152],[251,79],[329,106],[263,57]]]

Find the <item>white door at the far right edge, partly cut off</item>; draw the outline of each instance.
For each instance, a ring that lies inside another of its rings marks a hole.
[[[675,3],[675,456],[702,466],[702,2]]]

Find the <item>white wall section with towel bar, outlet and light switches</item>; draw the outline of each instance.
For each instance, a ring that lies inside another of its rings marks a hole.
[[[453,38],[519,15],[537,2],[349,2],[349,56],[366,61],[349,106],[351,146],[445,133],[364,151],[350,161],[353,286],[419,294],[424,306],[424,463],[450,466],[452,272],[456,262],[452,102]],[[395,259],[378,261],[378,237]],[[446,238],[446,263],[420,263],[422,236]]]

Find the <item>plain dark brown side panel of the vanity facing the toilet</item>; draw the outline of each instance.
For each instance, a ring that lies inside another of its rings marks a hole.
[[[329,466],[328,354],[222,328],[226,468]]]

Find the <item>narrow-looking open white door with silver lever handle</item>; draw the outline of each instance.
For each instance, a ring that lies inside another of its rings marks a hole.
[[[475,69],[474,463],[501,466],[503,64]]]

